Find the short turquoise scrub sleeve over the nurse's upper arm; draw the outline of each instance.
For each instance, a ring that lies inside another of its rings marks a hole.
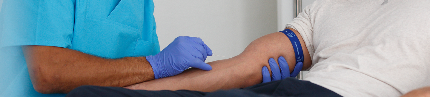
[[[0,48],[71,47],[74,0],[5,0],[0,13]]]

